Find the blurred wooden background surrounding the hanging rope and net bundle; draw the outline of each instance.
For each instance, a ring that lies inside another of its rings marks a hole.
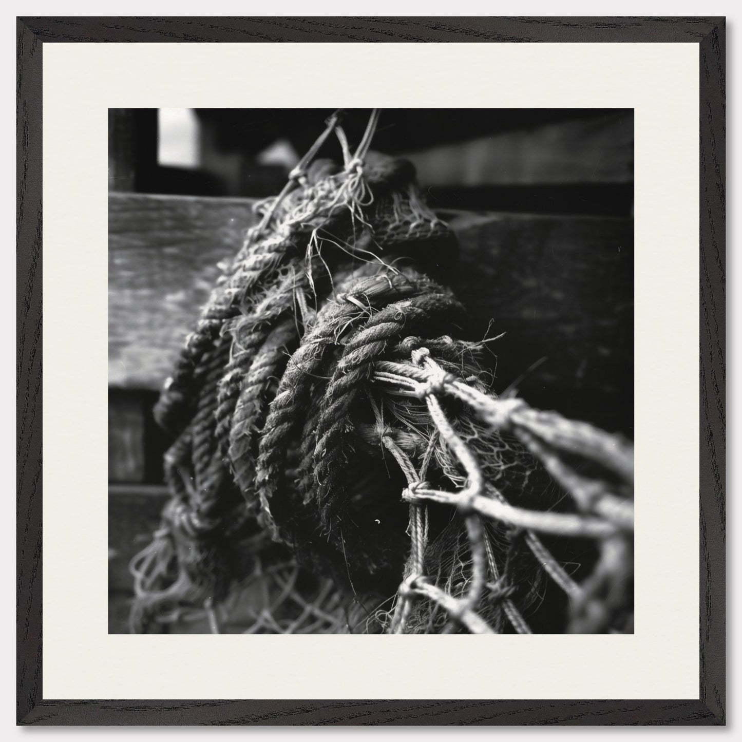
[[[370,111],[347,111],[351,147]],[[152,407],[183,339],[329,109],[110,109],[109,631],[167,497]],[[450,286],[490,344],[493,390],[633,437],[634,114],[386,109],[372,148],[412,160],[459,237]],[[340,157],[331,137],[320,156]],[[163,627],[163,631],[168,630]],[[198,623],[178,631],[209,631]]]

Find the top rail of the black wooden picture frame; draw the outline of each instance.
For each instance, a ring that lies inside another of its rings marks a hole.
[[[24,17],[44,42],[700,42],[713,18]]]

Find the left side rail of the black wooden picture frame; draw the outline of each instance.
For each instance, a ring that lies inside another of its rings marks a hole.
[[[16,710],[42,677],[42,45],[17,24],[16,119]]]

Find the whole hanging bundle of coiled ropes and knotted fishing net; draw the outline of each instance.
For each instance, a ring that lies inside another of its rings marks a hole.
[[[631,444],[491,392],[456,239],[377,119],[351,151],[332,116],[221,266],[155,410],[131,628],[632,631]]]

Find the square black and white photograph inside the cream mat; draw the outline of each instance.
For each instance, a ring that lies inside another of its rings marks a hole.
[[[633,633],[632,109],[108,140],[109,633]]]

